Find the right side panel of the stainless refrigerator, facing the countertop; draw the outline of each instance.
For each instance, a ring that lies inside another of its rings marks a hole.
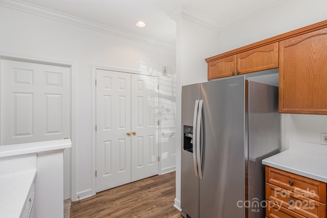
[[[262,160],[279,152],[278,87],[248,81],[249,216],[265,217],[265,168]]]

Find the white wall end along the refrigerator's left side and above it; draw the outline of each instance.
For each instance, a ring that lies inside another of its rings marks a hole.
[[[176,39],[176,199],[180,208],[181,87],[207,81],[205,58],[216,54],[218,32],[181,17]]]

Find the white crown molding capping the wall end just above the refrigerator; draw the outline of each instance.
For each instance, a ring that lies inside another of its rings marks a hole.
[[[218,25],[215,20],[205,17],[202,14],[182,5],[171,13],[169,17],[176,21],[184,18],[215,31],[220,31],[221,29],[221,26]]]

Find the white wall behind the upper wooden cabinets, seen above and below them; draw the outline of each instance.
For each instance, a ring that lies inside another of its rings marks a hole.
[[[327,19],[327,1],[289,0],[249,17],[220,34],[219,53],[286,33]],[[327,132],[327,115],[282,114],[282,150],[288,141],[320,143]]]

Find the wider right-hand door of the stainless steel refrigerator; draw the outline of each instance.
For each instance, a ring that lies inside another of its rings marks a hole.
[[[242,207],[246,152],[244,98],[244,77],[200,85],[200,100],[203,100],[201,218],[245,217]]]

